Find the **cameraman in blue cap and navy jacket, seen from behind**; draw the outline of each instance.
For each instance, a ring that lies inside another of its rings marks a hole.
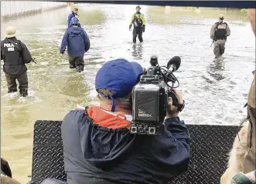
[[[129,132],[131,90],[142,72],[125,59],[106,62],[95,79],[100,105],[67,113],[61,126],[67,183],[157,184],[186,172],[189,132],[171,99],[162,135]]]

